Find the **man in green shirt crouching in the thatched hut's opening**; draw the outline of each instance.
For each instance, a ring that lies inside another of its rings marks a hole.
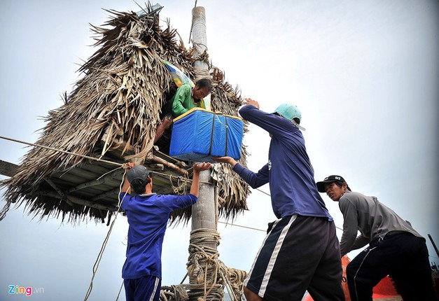
[[[187,83],[181,85],[167,105],[167,115],[155,131],[154,144],[162,137],[165,130],[172,125],[173,118],[181,116],[190,109],[201,106],[202,99],[210,94],[212,88],[212,82],[209,78],[197,80],[195,87],[191,87]]]

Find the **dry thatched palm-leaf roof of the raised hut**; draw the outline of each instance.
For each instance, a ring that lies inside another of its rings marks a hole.
[[[191,176],[190,167],[167,155],[166,137],[159,141],[159,150],[152,141],[162,107],[174,88],[162,60],[196,80],[196,58],[169,23],[165,29],[160,27],[158,12],[139,18],[134,12],[107,11],[111,19],[103,27],[92,27],[99,49],[81,66],[83,77],[64,95],[64,105],[48,113],[36,144],[116,163],[137,154],[137,160],[155,171],[158,193],[184,193],[190,185],[184,181]],[[203,57],[207,61],[207,53]],[[210,73],[212,110],[236,116],[239,90],[224,80],[218,68],[212,66]],[[123,169],[78,155],[32,148],[17,172],[1,183],[7,204],[0,219],[15,203],[25,204],[29,214],[41,218],[53,215],[63,221],[109,222],[118,204]],[[246,163],[245,148],[241,162]],[[225,166],[220,172],[232,174]],[[218,186],[220,215],[234,217],[246,209],[246,184],[230,177]],[[172,221],[189,217],[190,211],[180,211]]]

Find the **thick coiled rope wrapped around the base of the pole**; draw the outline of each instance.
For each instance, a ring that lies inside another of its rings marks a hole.
[[[212,229],[202,228],[190,232],[188,273],[186,274],[189,276],[190,284],[162,286],[160,300],[223,300],[224,288],[227,288],[232,300],[242,300],[246,272],[227,267],[221,260],[218,260],[219,253],[216,248],[206,246],[218,245],[219,239],[219,233]]]

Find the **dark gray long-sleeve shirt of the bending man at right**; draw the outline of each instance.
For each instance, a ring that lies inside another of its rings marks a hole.
[[[368,197],[361,193],[347,191],[340,197],[342,211],[343,235],[340,241],[340,252],[346,255],[349,251],[361,248],[370,241],[398,232],[410,232],[422,237],[410,223],[404,221],[389,207],[378,202],[376,197]],[[357,230],[360,235],[357,237]]]

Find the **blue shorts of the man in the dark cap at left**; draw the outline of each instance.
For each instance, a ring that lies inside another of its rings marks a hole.
[[[162,280],[148,275],[137,279],[124,279],[123,286],[127,301],[159,301]]]

